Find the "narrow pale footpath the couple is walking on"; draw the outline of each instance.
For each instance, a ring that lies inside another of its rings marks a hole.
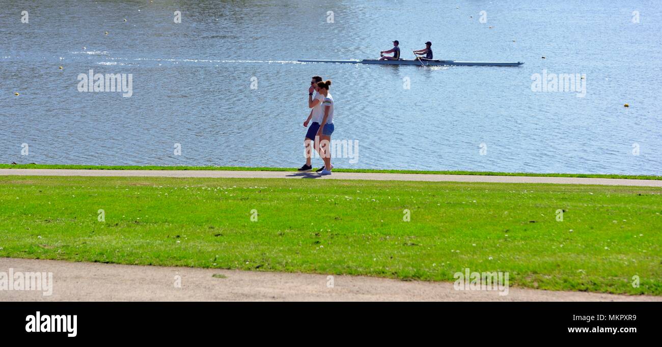
[[[0,169],[2,175],[21,176],[140,176],[140,177],[207,177],[207,178],[315,178],[338,180],[417,180],[428,182],[495,182],[604,184],[608,186],[662,187],[662,180],[626,178],[581,178],[537,176],[481,176],[472,174],[400,174],[400,173],[334,173],[321,176],[295,171],[212,171],[212,170],[72,170],[72,169]]]

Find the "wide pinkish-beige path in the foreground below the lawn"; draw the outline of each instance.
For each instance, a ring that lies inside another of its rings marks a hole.
[[[662,301],[662,297],[509,288],[458,291],[451,282],[0,258],[0,272],[52,272],[52,295],[0,291],[0,301]],[[225,278],[213,277],[222,274]],[[181,276],[181,288],[175,287]]]

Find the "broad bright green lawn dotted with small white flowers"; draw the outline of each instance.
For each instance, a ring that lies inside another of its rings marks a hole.
[[[661,194],[559,184],[0,176],[0,256],[434,281],[469,268],[509,272],[511,286],[662,295]]]

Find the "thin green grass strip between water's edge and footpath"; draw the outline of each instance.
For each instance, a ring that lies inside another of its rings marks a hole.
[[[216,170],[216,171],[297,171],[294,167],[189,167],[156,165],[55,165],[55,164],[0,164],[0,169],[82,169],[82,170]],[[410,173],[410,174],[471,174],[479,176],[540,176],[540,177],[589,177],[662,180],[662,176],[636,174],[573,174],[573,173],[499,173],[496,171],[423,171],[423,170],[375,170],[334,169],[334,173]]]

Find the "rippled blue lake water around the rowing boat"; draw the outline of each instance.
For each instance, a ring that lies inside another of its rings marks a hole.
[[[3,163],[299,167],[322,75],[333,138],[358,141],[336,167],[662,174],[659,0],[23,3],[0,1]],[[438,59],[525,64],[296,62],[392,40],[406,59],[430,40]],[[90,69],[132,74],[132,96],[79,92]],[[585,96],[532,91],[544,70],[585,75]]]

